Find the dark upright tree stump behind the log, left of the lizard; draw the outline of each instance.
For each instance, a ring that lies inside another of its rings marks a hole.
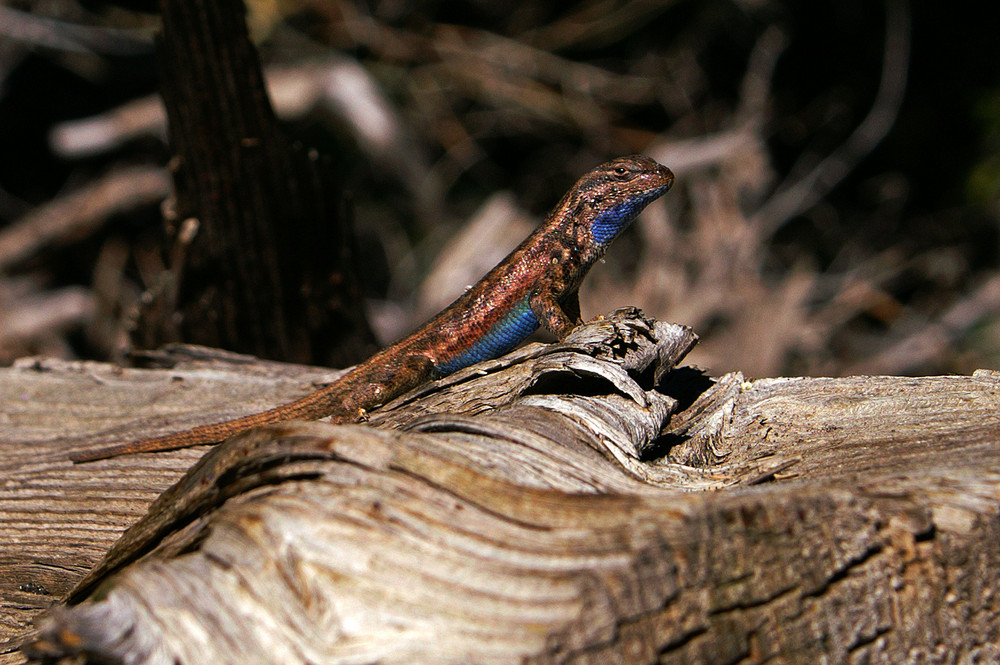
[[[279,126],[242,0],[160,4],[175,246],[138,348],[185,341],[333,367],[370,355],[339,183]]]

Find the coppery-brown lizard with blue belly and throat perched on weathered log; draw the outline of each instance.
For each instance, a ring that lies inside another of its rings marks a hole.
[[[90,462],[214,444],[287,420],[359,422],[368,411],[426,381],[513,350],[539,326],[563,339],[581,322],[578,289],[587,271],[673,181],[670,169],[643,155],[601,164],[581,177],[531,235],[455,302],[333,383],[242,418],[80,451],[70,458]]]

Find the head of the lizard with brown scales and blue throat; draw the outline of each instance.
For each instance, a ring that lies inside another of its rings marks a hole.
[[[574,217],[590,229],[594,242],[606,247],[650,202],[666,193],[674,174],[643,155],[605,162],[584,175],[571,190]]]

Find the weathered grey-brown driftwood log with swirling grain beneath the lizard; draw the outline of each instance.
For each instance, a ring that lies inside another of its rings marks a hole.
[[[5,370],[0,662],[1000,659],[997,375],[712,380],[694,339],[623,311],[369,426],[79,466],[335,373]]]

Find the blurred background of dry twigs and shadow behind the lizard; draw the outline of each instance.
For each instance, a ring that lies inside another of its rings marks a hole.
[[[586,170],[677,183],[584,316],[749,376],[1000,369],[1000,8],[904,0],[250,0],[288,134],[350,195],[382,342]],[[0,364],[126,361],[163,269],[155,3],[0,1]],[[165,203],[166,201],[166,203]]]

